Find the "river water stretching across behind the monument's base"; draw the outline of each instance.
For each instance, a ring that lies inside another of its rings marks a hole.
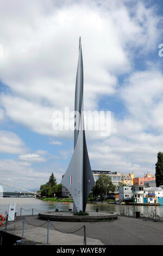
[[[22,208],[22,215],[38,214],[41,211],[54,211],[59,209],[61,211],[73,209],[73,203],[51,202],[42,201],[35,198],[0,198],[0,213],[9,209],[9,203],[16,204],[17,215],[20,215],[20,209]],[[99,204],[99,203],[87,203],[86,211],[109,211],[117,212],[118,214],[135,215],[135,211],[140,211],[140,214],[145,217],[154,216],[154,210],[156,214],[163,217],[163,205],[161,206],[139,206],[139,205],[116,205],[116,204]],[[3,213],[2,213],[3,214]],[[149,216],[150,215],[150,216]]]

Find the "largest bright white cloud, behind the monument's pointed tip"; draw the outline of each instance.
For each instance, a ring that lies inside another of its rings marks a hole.
[[[116,76],[132,69],[133,51],[128,45],[134,41],[134,48],[143,46],[151,51],[160,34],[153,9],[140,3],[132,15],[125,3],[117,1],[57,6],[52,1],[18,3],[22,12],[16,15],[16,9],[10,10],[10,17],[15,19],[2,14],[5,54],[0,60],[0,77],[12,95],[3,94],[1,99],[12,120],[45,135],[71,136],[54,133],[51,118],[54,110],[65,106],[73,109],[79,35],[84,58],[84,108],[92,110],[98,108],[100,96],[116,92]],[[3,5],[3,13],[7,6]]]

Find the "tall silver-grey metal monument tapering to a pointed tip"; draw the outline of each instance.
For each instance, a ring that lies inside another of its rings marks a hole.
[[[95,184],[85,141],[83,115],[83,56],[79,38],[79,58],[76,77],[74,120],[74,152],[61,184],[73,197],[73,211],[85,211],[87,197]]]

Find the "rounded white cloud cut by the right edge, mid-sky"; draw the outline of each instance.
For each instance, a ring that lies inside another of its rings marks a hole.
[[[160,70],[135,72],[122,88],[122,97],[130,116],[143,129],[162,130],[163,75]]]

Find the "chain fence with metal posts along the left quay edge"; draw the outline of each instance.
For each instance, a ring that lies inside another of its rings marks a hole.
[[[32,209],[33,210],[33,209]],[[13,225],[14,225],[14,230],[15,230],[15,228],[16,228],[16,223],[17,222],[22,222],[22,237],[24,237],[24,229],[25,229],[25,223],[27,223],[28,225],[31,225],[32,227],[42,227],[43,225],[45,225],[45,224],[47,224],[47,245],[49,244],[49,225],[51,224],[51,226],[53,227],[53,229],[55,229],[55,230],[57,230],[57,231],[59,231],[59,232],[61,232],[61,233],[64,233],[64,234],[74,234],[74,233],[76,233],[77,231],[79,231],[79,230],[81,230],[81,229],[84,229],[84,240],[83,240],[83,245],[86,245],[86,225],[84,224],[82,227],[80,227],[79,229],[77,229],[77,230],[74,230],[74,231],[71,231],[71,232],[65,232],[65,231],[62,231],[62,230],[59,230],[58,228],[56,228],[53,224],[52,224],[52,222],[50,222],[49,220],[48,221],[46,221],[46,222],[44,222],[44,223],[42,223],[42,224],[40,224],[40,225],[33,225],[33,224],[31,224],[28,220],[27,220],[27,218],[25,218],[25,217],[23,217],[23,218],[21,218],[20,220],[18,220],[18,221],[16,221],[16,216],[15,216],[15,221],[14,221],[14,223],[13,224],[11,224],[11,225],[8,225],[8,219],[9,219],[9,215],[8,215],[8,213],[7,213],[7,211],[3,211],[3,212],[5,212],[5,216],[4,216],[4,218],[5,218],[5,221],[4,221],[4,223],[5,223],[5,228],[2,228],[2,229],[0,229],[0,231],[1,230],[5,230],[5,231],[7,231],[7,229],[9,228],[9,227],[12,227]],[[2,214],[3,212],[0,212],[0,214]],[[20,215],[21,216],[21,215]],[[32,215],[33,216],[33,215]],[[2,244],[2,237],[0,237],[1,239],[0,239],[0,245]]]

